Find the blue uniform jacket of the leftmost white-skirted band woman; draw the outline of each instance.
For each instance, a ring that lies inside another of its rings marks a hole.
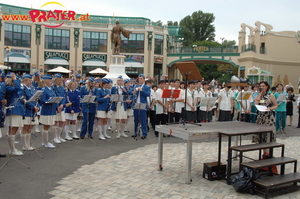
[[[24,91],[21,89],[21,81],[19,79],[14,80],[14,85],[15,86],[6,86],[5,97],[7,100],[7,106],[14,106],[13,108],[6,110],[6,116],[23,116],[25,113],[25,109],[23,100],[21,98],[24,96]],[[18,99],[17,102],[15,101],[16,99]]]

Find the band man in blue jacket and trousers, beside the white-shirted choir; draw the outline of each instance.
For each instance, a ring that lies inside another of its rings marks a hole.
[[[145,75],[139,75],[139,85],[136,85],[133,93],[136,95],[135,103],[143,103],[146,104],[146,110],[138,110],[134,109],[134,135],[136,137],[138,135],[138,125],[141,123],[143,136],[142,139],[147,137],[147,97],[150,95],[150,87],[145,85]]]

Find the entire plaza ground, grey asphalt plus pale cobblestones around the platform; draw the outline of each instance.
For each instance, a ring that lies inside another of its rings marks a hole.
[[[286,145],[285,154],[300,160],[300,142],[296,117],[292,127],[287,127],[286,137],[278,135],[277,142]],[[130,122],[131,128],[132,121]],[[132,133],[131,133],[132,134]],[[131,135],[130,134],[130,135]],[[33,143],[40,145],[41,134],[35,133]],[[50,134],[51,135],[51,134]],[[203,163],[217,160],[217,139],[193,143],[192,183],[185,184],[186,143],[183,140],[164,138],[163,171],[158,171],[158,145],[150,129],[145,140],[133,138],[101,141],[94,135],[90,140],[71,141],[53,149],[40,148],[27,152],[21,161],[30,169],[11,160],[0,170],[0,198],[261,198],[235,192],[231,185],[222,181],[208,181],[202,177]],[[243,137],[243,144],[250,143],[251,136]],[[226,144],[222,146],[222,162],[226,163]],[[17,144],[21,148],[21,144]],[[0,152],[7,153],[5,138],[0,139]],[[257,158],[257,153],[247,153]],[[275,156],[280,150],[275,149]],[[1,158],[2,165],[7,158]],[[237,171],[238,161],[233,161]],[[299,171],[298,164],[298,171]],[[286,166],[292,172],[292,165]],[[275,198],[300,198],[300,191]]]

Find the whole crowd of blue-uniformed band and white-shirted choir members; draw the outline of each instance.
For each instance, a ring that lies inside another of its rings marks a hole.
[[[42,125],[42,146],[55,148],[56,144],[73,139],[93,139],[95,131],[100,140],[111,139],[108,131],[112,129],[116,131],[116,138],[126,138],[128,120],[132,117],[134,138],[146,139],[149,125],[155,131],[155,125],[212,122],[214,119],[275,125],[275,140],[276,133],[285,133],[287,116],[290,119],[288,125],[292,125],[293,102],[296,100],[292,87],[279,84],[275,90],[272,93],[266,81],[231,87],[221,85],[217,80],[207,82],[203,79],[186,84],[175,79],[160,80],[155,85],[140,74],[137,80],[124,80],[120,75],[113,84],[110,79],[83,78],[79,74],[74,78],[63,78],[59,73],[41,76],[36,72],[22,77],[8,73],[1,76],[0,124],[2,134],[8,135],[11,155],[23,155],[15,147],[17,132],[20,132],[22,150],[35,150],[31,132],[40,132]],[[40,96],[32,99],[37,92]],[[258,111],[255,105],[267,110]],[[297,105],[299,108],[299,98]],[[114,128],[112,120],[115,120]],[[53,134],[51,140],[49,131]],[[158,136],[157,131],[155,135]],[[253,142],[266,141],[265,137],[262,139],[254,136]]]

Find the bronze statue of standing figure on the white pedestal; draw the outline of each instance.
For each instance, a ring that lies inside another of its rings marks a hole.
[[[114,44],[114,55],[120,54],[120,46],[121,46],[121,33],[124,37],[129,39],[131,31],[125,30],[121,25],[119,21],[116,21],[116,26],[113,27],[111,31],[111,41]]]

